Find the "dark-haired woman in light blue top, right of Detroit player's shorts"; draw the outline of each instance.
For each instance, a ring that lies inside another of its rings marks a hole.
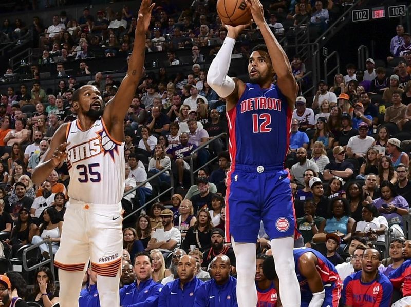
[[[341,238],[342,243],[347,243],[351,239],[351,231],[355,223],[350,217],[348,201],[341,197],[334,197],[330,200],[328,209],[328,219],[320,225],[319,232],[335,233]]]

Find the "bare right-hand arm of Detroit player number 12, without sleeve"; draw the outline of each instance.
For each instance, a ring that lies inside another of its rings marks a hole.
[[[259,0],[245,0],[251,10],[253,20],[263,35],[271,63],[277,74],[277,85],[281,92],[287,97],[288,104],[294,108],[295,98],[298,94],[298,85],[292,74],[291,64],[287,54],[278,43],[273,32],[270,30],[266,19],[264,19],[264,8]]]

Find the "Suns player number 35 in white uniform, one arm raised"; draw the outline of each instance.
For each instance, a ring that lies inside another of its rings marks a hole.
[[[145,33],[155,4],[142,0],[133,53],[118,92],[103,108],[100,91],[85,85],[73,94],[78,119],[63,124],[35,168],[36,185],[67,158],[70,174],[61,244],[54,265],[59,268],[60,306],[78,306],[87,264],[98,274],[102,307],[119,306],[122,259],[121,198],[124,192],[124,117],[142,76]]]

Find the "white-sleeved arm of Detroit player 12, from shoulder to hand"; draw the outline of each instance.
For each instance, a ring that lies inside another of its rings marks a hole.
[[[227,108],[229,111],[237,103],[238,98],[245,89],[245,84],[239,79],[233,79],[227,75],[230,68],[231,53],[235,45],[235,40],[238,35],[247,28],[248,25],[239,25],[232,27],[225,25],[227,29],[227,37],[222,43],[220,50],[211,62],[209,72],[207,74],[207,83],[218,94],[218,96],[226,98]]]

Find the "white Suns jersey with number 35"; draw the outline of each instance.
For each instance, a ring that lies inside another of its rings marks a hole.
[[[103,119],[83,131],[79,120],[67,126],[68,196],[96,204],[116,204],[125,187],[124,142],[110,137]]]

